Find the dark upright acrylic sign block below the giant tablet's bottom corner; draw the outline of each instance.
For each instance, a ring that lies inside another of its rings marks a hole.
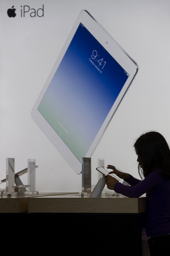
[[[92,175],[91,175],[91,158],[90,157],[82,157],[82,193],[91,194],[92,192]]]

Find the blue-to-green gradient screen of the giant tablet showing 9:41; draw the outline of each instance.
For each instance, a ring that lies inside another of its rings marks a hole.
[[[80,23],[38,107],[80,162],[127,78]]]

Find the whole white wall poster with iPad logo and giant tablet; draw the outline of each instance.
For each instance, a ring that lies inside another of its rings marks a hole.
[[[36,159],[38,191],[81,191],[81,157],[94,185],[98,158],[138,178],[135,138],[157,130],[169,142],[163,3],[0,2],[1,180],[6,157],[15,173]]]

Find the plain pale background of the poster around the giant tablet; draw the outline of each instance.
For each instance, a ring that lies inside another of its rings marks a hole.
[[[25,15],[21,6],[42,8],[44,17]],[[7,9],[14,5],[16,17]],[[31,118],[31,110],[79,15],[86,9],[138,63],[139,72],[92,155],[139,177],[133,142],[146,130],[170,143],[169,0],[1,0],[0,1],[0,180],[6,157],[15,172],[35,158],[36,190],[81,191],[77,175]],[[27,184],[27,175],[21,176]],[[4,185],[0,185],[3,188]]]

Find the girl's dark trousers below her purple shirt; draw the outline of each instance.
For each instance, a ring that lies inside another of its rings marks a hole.
[[[170,256],[170,234],[148,239],[151,256]]]

